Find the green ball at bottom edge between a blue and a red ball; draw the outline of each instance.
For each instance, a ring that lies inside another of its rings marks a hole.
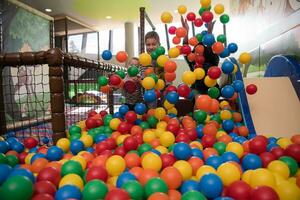
[[[83,199],[104,199],[108,193],[108,188],[103,181],[92,180],[88,182],[82,191]]]

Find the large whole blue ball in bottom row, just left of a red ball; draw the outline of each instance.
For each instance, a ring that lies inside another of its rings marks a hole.
[[[223,183],[221,178],[216,174],[205,174],[202,176],[199,186],[200,192],[209,199],[219,197],[222,194]]]

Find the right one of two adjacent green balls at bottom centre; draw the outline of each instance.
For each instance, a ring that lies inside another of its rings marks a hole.
[[[167,193],[167,191],[168,186],[161,178],[151,178],[145,185],[145,194],[147,197],[156,192]]]

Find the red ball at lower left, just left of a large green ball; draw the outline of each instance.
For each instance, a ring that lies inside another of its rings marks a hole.
[[[60,179],[60,172],[53,167],[42,169],[36,177],[37,181],[50,181],[56,186],[58,186]]]

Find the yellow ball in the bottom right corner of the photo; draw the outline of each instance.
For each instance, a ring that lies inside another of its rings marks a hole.
[[[276,192],[280,200],[300,199],[300,188],[286,180],[277,185]]]

